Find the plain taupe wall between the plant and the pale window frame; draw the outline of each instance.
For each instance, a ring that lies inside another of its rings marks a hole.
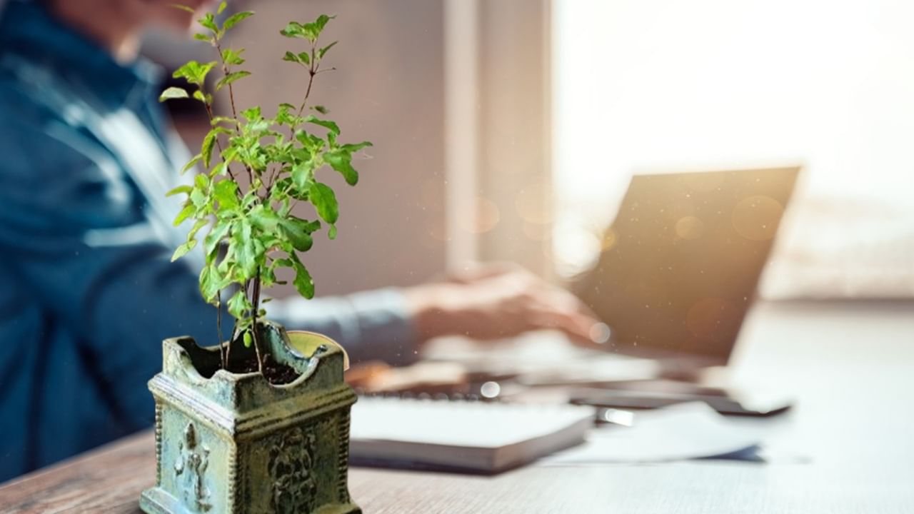
[[[307,254],[320,294],[415,284],[444,267],[443,68],[441,2],[266,0],[240,24],[232,44],[248,48],[255,80],[240,104],[298,104],[306,74],[281,60],[290,19],[338,16],[322,36],[337,70],[315,80],[314,103],[330,109],[343,139],[375,146],[356,168],[357,187],[324,170],[340,201],[339,237]],[[302,51],[300,48],[297,51]]]

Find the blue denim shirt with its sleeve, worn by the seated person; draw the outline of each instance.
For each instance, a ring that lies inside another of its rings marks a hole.
[[[217,339],[194,258],[170,262],[188,152],[155,73],[36,3],[0,15],[0,481],[149,426],[162,339]],[[414,359],[398,290],[268,306],[354,361]]]

